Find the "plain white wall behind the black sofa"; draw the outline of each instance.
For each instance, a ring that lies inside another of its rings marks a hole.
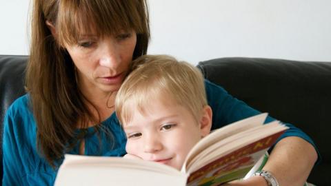
[[[331,61],[330,0],[149,0],[150,54]],[[28,54],[28,0],[0,0],[0,54]]]

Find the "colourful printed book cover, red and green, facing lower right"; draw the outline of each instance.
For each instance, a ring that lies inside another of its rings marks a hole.
[[[230,180],[243,178],[281,134],[283,131],[244,145],[240,149],[230,150],[229,154],[219,156],[197,171],[191,172],[188,185],[219,185]]]

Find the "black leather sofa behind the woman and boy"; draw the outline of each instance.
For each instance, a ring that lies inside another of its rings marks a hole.
[[[25,94],[27,59],[0,55],[1,143],[3,116],[12,101]],[[233,96],[310,135],[323,161],[314,167],[308,182],[331,185],[331,62],[231,57],[203,61],[198,67],[206,79],[225,87]],[[2,158],[2,146],[0,154]]]

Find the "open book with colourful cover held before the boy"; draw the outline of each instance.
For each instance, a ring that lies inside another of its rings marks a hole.
[[[263,125],[267,115],[214,130],[194,145],[181,171],[142,160],[66,154],[55,185],[219,185],[243,178],[288,128],[279,121]]]

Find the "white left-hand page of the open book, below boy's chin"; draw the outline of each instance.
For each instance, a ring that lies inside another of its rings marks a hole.
[[[66,154],[54,185],[185,185],[187,178],[160,163]]]

